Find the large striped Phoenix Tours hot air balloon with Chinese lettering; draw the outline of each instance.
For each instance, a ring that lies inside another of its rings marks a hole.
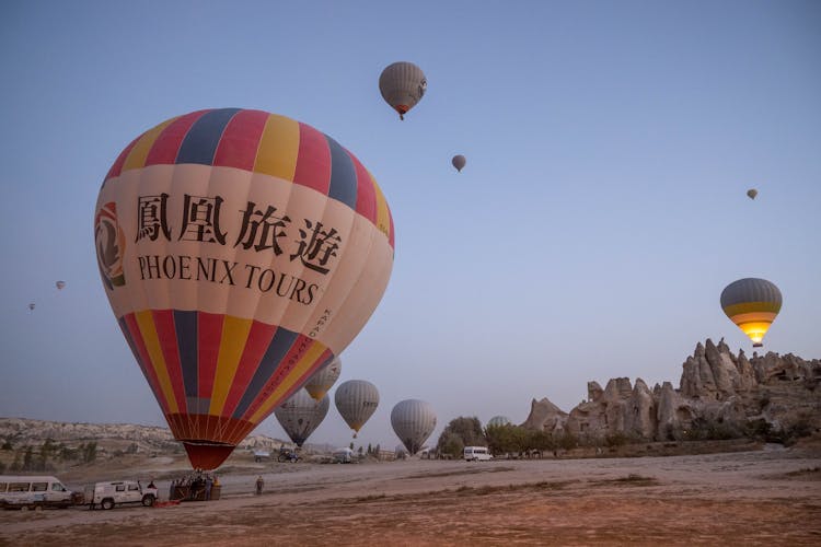
[[[149,129],[114,162],[95,211],[105,293],[204,469],[350,344],[393,265],[373,176],[331,137],[267,112]]]

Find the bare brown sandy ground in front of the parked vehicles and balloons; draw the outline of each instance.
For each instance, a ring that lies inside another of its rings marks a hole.
[[[256,473],[240,469],[221,476],[218,501],[2,511],[0,545],[821,545],[819,443],[263,469],[262,496]],[[167,485],[158,484],[163,497]]]

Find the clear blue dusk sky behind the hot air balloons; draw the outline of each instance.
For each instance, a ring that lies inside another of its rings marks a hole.
[[[428,79],[402,123],[378,90],[397,60]],[[742,277],[784,294],[765,349],[821,358],[817,1],[7,0],[0,66],[0,416],[165,423],[93,209],[132,138],[205,107],[316,127],[390,202],[393,276],[342,356],[381,393],[366,445],[398,444],[405,398],[435,442],[533,397],[569,410],[591,380],[678,387],[699,340],[751,353],[718,304]],[[310,441],[349,442],[333,406]]]

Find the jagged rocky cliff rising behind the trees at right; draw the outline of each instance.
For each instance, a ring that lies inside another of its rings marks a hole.
[[[679,388],[650,389],[641,379],[588,383],[587,400],[564,412],[547,398],[531,403],[522,427],[595,440],[729,438],[821,430],[821,360],[740,350],[707,339],[682,364]],[[799,431],[800,430],[800,431]]]

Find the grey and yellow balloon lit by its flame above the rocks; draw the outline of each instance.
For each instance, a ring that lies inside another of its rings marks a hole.
[[[761,348],[764,335],[782,309],[782,292],[766,279],[739,279],[721,291],[721,309],[750,337],[753,348]]]

